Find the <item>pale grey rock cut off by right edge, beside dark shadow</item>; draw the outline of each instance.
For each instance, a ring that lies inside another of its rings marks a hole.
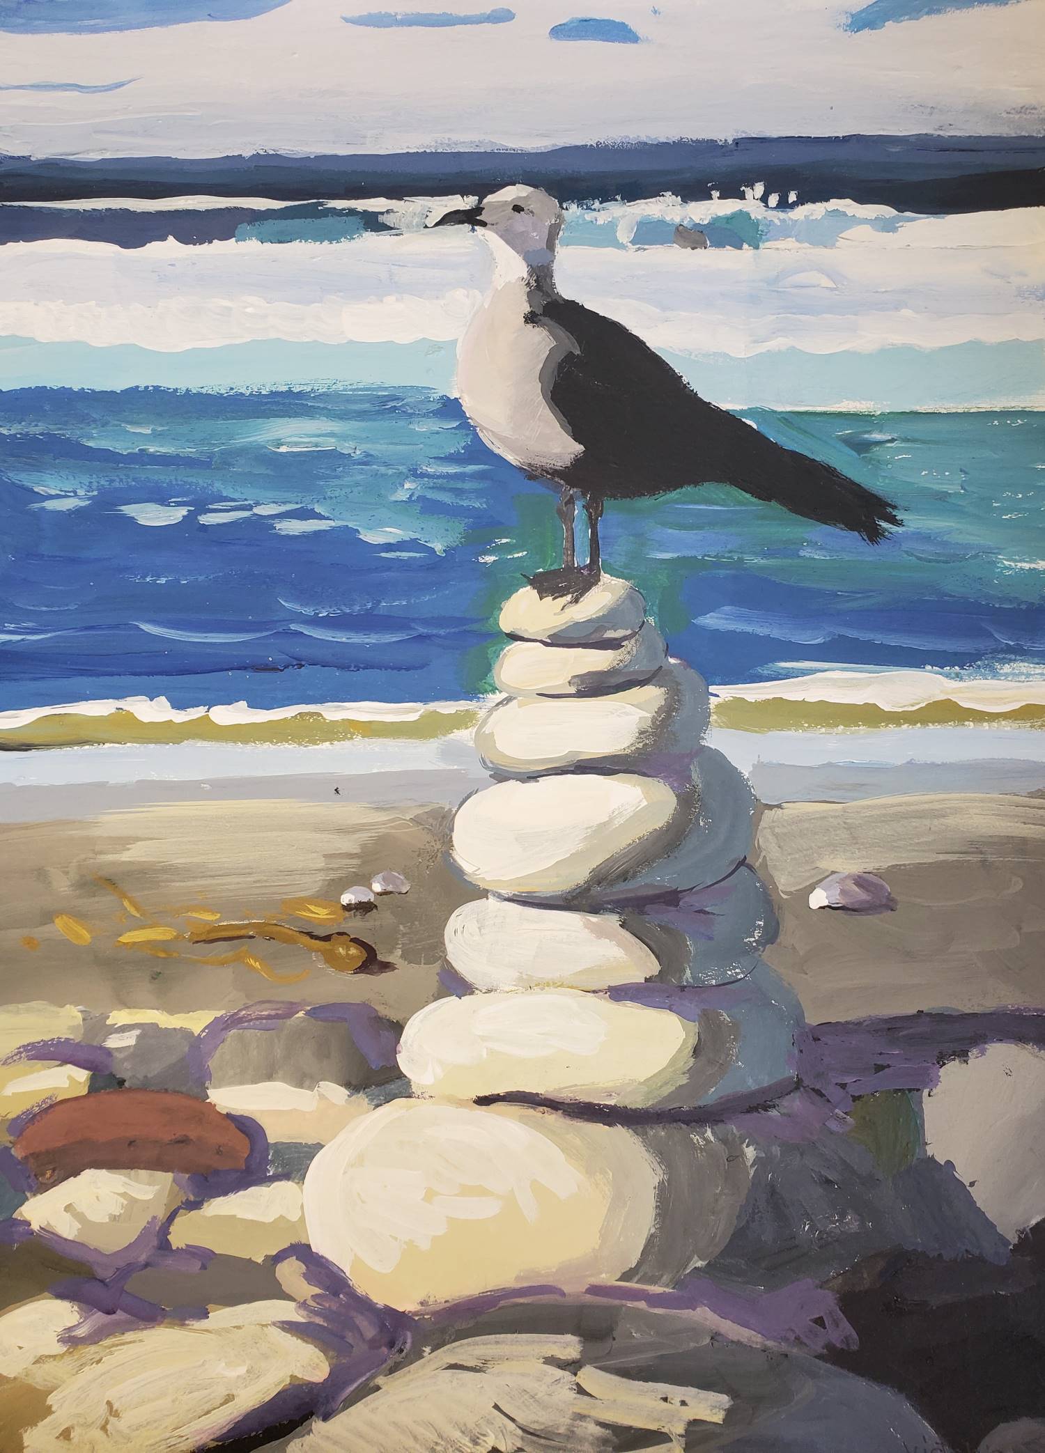
[[[1014,1241],[1045,1218],[1045,1053],[988,1045],[956,1059],[921,1113],[926,1149],[953,1164],[1003,1237]]]

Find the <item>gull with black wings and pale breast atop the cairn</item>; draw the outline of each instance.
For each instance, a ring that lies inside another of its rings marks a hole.
[[[562,567],[532,578],[539,594],[596,583],[606,500],[731,484],[871,545],[901,523],[888,500],[709,404],[622,324],[564,298],[554,278],[562,209],[546,192],[503,187],[429,225],[477,228],[494,254],[493,288],[458,346],[458,395],[494,453],[560,494]]]

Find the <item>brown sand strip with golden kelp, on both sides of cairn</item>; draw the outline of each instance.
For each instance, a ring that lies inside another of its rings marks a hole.
[[[350,793],[344,782],[333,802],[183,801],[0,824],[4,1000],[169,1014],[366,1000],[407,1017],[437,992],[448,915],[477,894],[445,859],[445,805],[379,806]],[[1042,798],[767,806],[753,862],[780,911],[766,958],[811,1021],[1045,1003]],[[404,873],[410,894],[342,917],[342,891],[384,869]],[[881,873],[897,910],[811,911],[810,889],[844,869]],[[243,920],[305,937],[190,942]],[[307,936],[333,933],[369,946],[371,966],[330,968]],[[118,942],[126,934],[137,937]]]

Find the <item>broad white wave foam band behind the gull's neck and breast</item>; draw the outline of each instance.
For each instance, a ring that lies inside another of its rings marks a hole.
[[[795,212],[815,219],[833,206]],[[689,356],[1045,339],[1045,314],[1030,307],[1045,279],[1045,209],[892,214],[885,221],[895,230],[879,231],[852,222],[866,212],[881,219],[884,209],[844,208],[839,246],[794,237],[743,251],[574,246],[562,250],[558,278],[565,294],[654,347]],[[273,339],[446,341],[464,330],[490,275],[477,238],[443,234],[137,250],[49,240],[9,243],[0,257],[0,334],[153,352]]]

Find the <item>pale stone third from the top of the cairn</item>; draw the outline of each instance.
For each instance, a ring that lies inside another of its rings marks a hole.
[[[626,769],[644,757],[696,751],[708,716],[706,683],[682,661],[669,661],[644,686],[605,696],[499,702],[475,728],[475,750],[485,767],[506,776]]]

